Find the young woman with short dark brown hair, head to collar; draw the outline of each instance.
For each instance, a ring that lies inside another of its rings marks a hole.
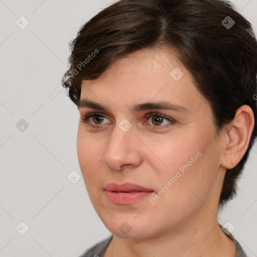
[[[251,25],[219,0],[121,0],[70,46],[79,165],[112,233],[83,256],[246,256],[217,212],[256,137]]]

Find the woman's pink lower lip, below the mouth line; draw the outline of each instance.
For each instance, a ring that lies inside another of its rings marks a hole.
[[[114,204],[132,204],[143,198],[148,197],[154,192],[131,192],[131,193],[118,193],[106,191],[107,198]]]

